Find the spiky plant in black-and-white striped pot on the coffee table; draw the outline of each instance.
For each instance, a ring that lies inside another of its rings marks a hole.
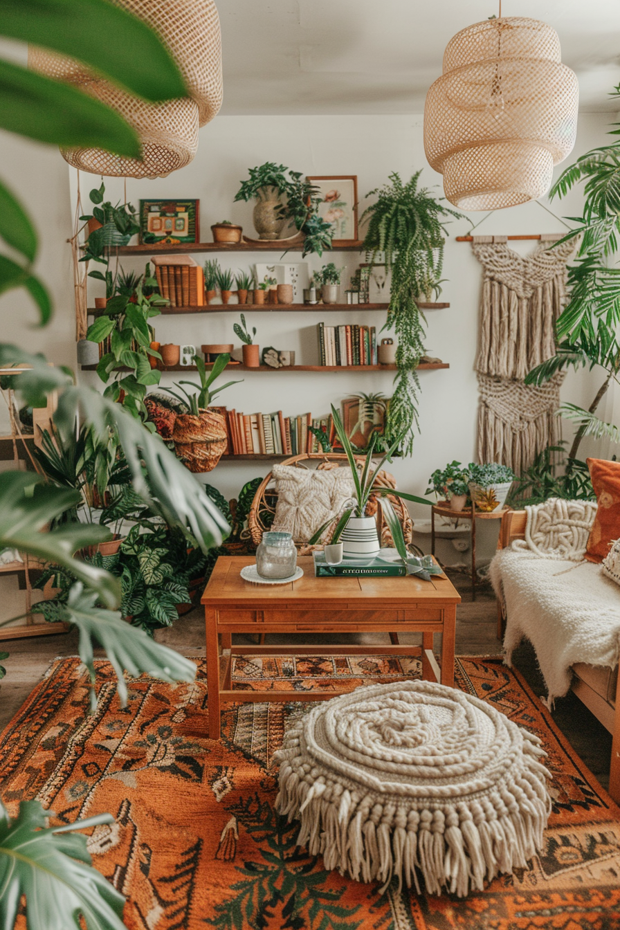
[[[348,502],[343,511],[336,514],[338,519],[332,538],[329,540],[330,544],[336,545],[340,538],[342,538],[343,555],[345,558],[363,557],[371,559],[378,554],[380,546],[378,534],[376,532],[376,520],[375,517],[366,516],[366,507],[369,498],[371,494],[375,494],[381,498],[381,509],[389,526],[394,548],[401,556],[404,565],[407,566],[407,570],[423,578],[428,577],[429,572],[434,574],[441,572],[441,568],[432,565],[429,559],[422,562],[422,560],[416,558],[416,556],[407,551],[402,535],[402,525],[389,502],[388,496],[393,495],[396,498],[411,500],[417,504],[429,505],[430,501],[424,498],[417,498],[416,495],[413,494],[405,494],[404,491],[397,491],[391,487],[374,486],[376,476],[383,468],[386,460],[393,455],[395,449],[402,442],[402,436],[398,437],[381,456],[376,467],[373,467],[373,456],[376,454],[376,443],[378,441],[376,432],[371,436],[366,456],[360,460],[360,457],[356,457],[353,451],[350,438],[344,428],[342,419],[340,419],[340,414],[334,405],[332,405],[332,418],[340,445],[342,445],[349,459],[350,470],[353,476],[354,493],[352,503]],[[334,523],[336,516],[331,517],[323,526],[319,527],[310,538],[310,545],[315,545],[321,540],[323,533],[328,526]]]

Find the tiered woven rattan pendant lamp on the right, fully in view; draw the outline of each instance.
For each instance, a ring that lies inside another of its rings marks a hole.
[[[578,102],[546,23],[500,12],[457,33],[424,110],[424,147],[447,199],[496,210],[542,197],[573,149]]]

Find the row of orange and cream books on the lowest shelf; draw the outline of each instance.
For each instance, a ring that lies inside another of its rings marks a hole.
[[[229,451],[235,456],[297,456],[303,452],[321,452],[319,440],[310,426],[323,430],[327,436],[333,432],[331,416],[312,419],[310,413],[284,417],[282,410],[251,414],[227,410],[226,419]]]

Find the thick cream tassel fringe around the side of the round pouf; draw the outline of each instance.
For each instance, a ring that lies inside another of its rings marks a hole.
[[[297,845],[307,846],[311,856],[323,855],[325,869],[382,883],[380,893],[397,877],[399,889],[414,886],[420,894],[419,872],[429,894],[441,895],[445,888],[466,897],[498,872],[525,868],[542,846],[549,799],[527,770],[513,790],[502,787],[468,804],[442,803],[418,812],[388,800],[371,806],[370,798],[360,799],[323,776],[309,784],[282,759],[285,753],[279,753],[276,810],[289,823],[300,820]],[[535,770],[548,777],[537,762]]]

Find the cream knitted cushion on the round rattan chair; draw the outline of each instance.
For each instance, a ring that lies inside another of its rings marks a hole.
[[[308,542],[320,526],[338,515],[353,494],[350,468],[310,471],[295,465],[274,465],[271,473],[278,495],[271,529],[291,533],[296,542]]]

